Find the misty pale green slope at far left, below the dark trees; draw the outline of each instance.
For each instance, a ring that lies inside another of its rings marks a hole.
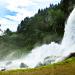
[[[0,36],[0,60],[8,59],[8,56],[9,59],[20,58],[30,52],[28,47],[21,46],[17,37],[17,33]]]

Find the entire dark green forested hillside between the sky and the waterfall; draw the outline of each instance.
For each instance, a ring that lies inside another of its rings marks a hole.
[[[74,4],[75,0],[61,0],[59,4],[39,9],[33,17],[24,18],[17,32],[7,29],[5,35],[0,36],[0,50],[3,53],[12,50],[24,52],[51,41],[60,42],[64,34],[64,23]]]

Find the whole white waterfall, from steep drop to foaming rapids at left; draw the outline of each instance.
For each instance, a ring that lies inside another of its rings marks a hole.
[[[9,61],[0,62],[6,67],[6,69],[19,68],[20,63],[23,62],[29,67],[35,67],[39,62],[44,61],[44,59],[50,56],[54,62],[58,62],[67,57],[71,52],[75,52],[75,8],[70,14],[67,23],[65,25],[65,33],[61,44],[52,42],[51,44],[45,44],[41,47],[34,48],[31,53],[26,57],[11,61],[9,65],[6,63]]]

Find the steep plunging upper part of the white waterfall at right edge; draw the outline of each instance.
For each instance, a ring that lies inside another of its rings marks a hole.
[[[60,46],[64,56],[75,52],[75,8],[65,24],[65,34]]]

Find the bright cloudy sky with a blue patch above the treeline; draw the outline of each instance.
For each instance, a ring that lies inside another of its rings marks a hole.
[[[0,29],[4,31],[9,28],[16,31],[18,24],[25,17],[31,17],[38,9],[44,9],[58,2],[60,0],[0,0]]]

